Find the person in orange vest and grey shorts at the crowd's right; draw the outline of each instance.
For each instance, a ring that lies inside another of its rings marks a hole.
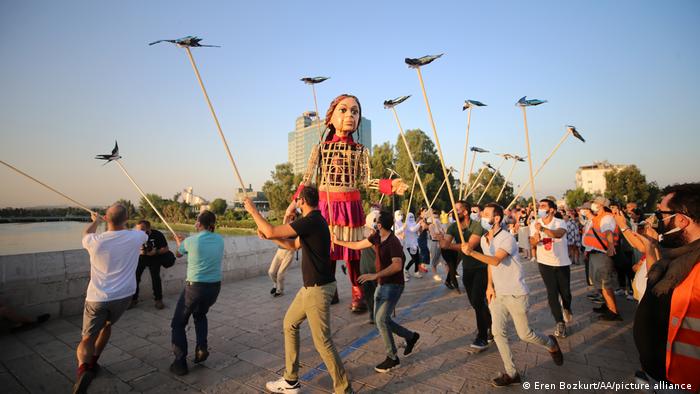
[[[600,313],[599,319],[606,321],[620,321],[620,316],[615,302],[616,271],[613,256],[615,256],[615,244],[619,240],[619,232],[615,219],[608,206],[607,198],[596,197],[591,204],[593,218],[591,225],[583,234],[583,244],[588,250],[593,286],[601,290],[605,303],[593,311]]]

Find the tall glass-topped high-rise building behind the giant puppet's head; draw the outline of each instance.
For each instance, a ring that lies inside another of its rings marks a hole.
[[[296,120],[294,131],[287,137],[289,162],[292,163],[294,173],[303,174],[311,156],[311,150],[318,144],[320,134],[325,129],[323,120],[320,121],[320,130],[316,112],[304,112]],[[372,121],[363,117],[360,129],[353,134],[358,143],[367,147],[372,152]]]

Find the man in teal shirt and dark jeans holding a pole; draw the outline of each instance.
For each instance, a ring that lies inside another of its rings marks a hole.
[[[187,279],[185,288],[173,313],[172,344],[175,361],[170,372],[185,375],[187,368],[187,335],[185,328],[194,319],[197,335],[194,362],[200,363],[209,357],[207,349],[207,312],[214,305],[221,290],[221,259],[224,257],[224,240],[214,234],[216,216],[203,211],[197,217],[194,227],[197,234],[182,239],[176,237],[178,254],[187,255]]]

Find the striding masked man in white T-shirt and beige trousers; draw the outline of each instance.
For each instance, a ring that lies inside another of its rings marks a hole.
[[[491,331],[506,369],[505,373],[493,379],[492,384],[497,387],[521,381],[518,370],[515,369],[513,353],[508,346],[508,316],[512,318],[521,340],[547,349],[556,365],[564,363],[564,355],[556,337],[547,337],[530,328],[527,319],[528,288],[518,260],[518,244],[510,232],[501,228],[502,219],[503,208],[495,203],[487,204],[481,212],[481,227],[488,230],[481,237],[481,249],[484,253],[474,251],[468,243],[461,245],[462,253],[487,264],[488,267],[486,298],[493,322]]]

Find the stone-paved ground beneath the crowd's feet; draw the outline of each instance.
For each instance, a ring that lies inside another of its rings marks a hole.
[[[530,323],[535,330],[549,334],[554,323],[544,285],[535,264],[524,265],[531,290]],[[340,270],[338,282],[341,303],[332,307],[333,339],[356,392],[522,391],[519,385],[505,389],[491,386],[490,379],[503,370],[495,345],[480,354],[469,353],[475,321],[467,297],[429,276],[407,283],[396,311],[408,328],[421,334],[414,354],[401,358],[400,368],[376,373],[373,368],[384,359],[384,346],[374,326],[367,324],[367,314],[353,315],[348,310],[349,283]],[[100,359],[103,370],[90,392],[261,392],[266,381],[283,373],[282,318],[300,283],[301,272],[294,268],[287,275],[287,292],[280,298],[269,295],[271,286],[266,277],[225,284],[209,313],[211,356],[201,365],[190,363],[190,373],[183,377],[168,372],[172,358],[169,324],[176,298],[166,298],[164,310],[156,310],[150,301],[142,300],[115,325]],[[559,382],[630,382],[638,369],[631,332],[634,303],[618,297],[624,322],[600,323],[585,298],[587,291],[583,266],[573,266],[574,322],[569,337],[560,340],[564,351],[562,367],[554,365],[544,350],[520,342],[511,327],[510,343],[516,364],[523,381],[532,384],[531,389],[536,381],[556,384],[557,389]],[[0,337],[0,391],[70,392],[81,319],[74,316],[51,320],[33,331]],[[322,370],[306,324],[301,337],[304,392],[329,392],[330,378]],[[188,338],[192,352],[192,326]]]

